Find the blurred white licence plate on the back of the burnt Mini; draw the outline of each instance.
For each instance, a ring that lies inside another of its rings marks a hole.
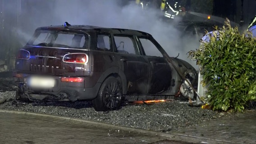
[[[52,88],[55,85],[55,80],[51,77],[31,77],[29,86],[37,88]]]

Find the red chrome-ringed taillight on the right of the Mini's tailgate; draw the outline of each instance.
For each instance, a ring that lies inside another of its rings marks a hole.
[[[65,54],[63,61],[66,63],[87,63],[88,55],[83,53]]]

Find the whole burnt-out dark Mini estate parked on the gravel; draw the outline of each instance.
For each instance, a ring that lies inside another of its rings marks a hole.
[[[148,33],[87,25],[39,27],[19,49],[20,100],[92,100],[97,111],[123,101],[194,96],[197,72],[169,57]]]

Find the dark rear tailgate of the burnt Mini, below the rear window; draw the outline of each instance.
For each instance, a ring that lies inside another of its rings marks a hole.
[[[89,53],[86,49],[29,46],[21,50],[25,54],[29,53],[29,58],[16,58],[15,68],[17,72],[55,76],[89,76],[91,74]],[[76,58],[73,61],[64,62],[73,54],[86,56],[85,62],[78,63]]]

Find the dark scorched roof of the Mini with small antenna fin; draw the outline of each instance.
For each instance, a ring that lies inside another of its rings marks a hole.
[[[46,27],[38,27],[37,30],[78,30],[85,32],[110,32],[114,34],[129,34],[129,35],[137,35],[137,36],[151,36],[151,34],[144,31],[137,31],[133,29],[124,29],[124,28],[107,28],[107,27],[97,27],[90,25],[58,25],[58,26],[46,26]]]

